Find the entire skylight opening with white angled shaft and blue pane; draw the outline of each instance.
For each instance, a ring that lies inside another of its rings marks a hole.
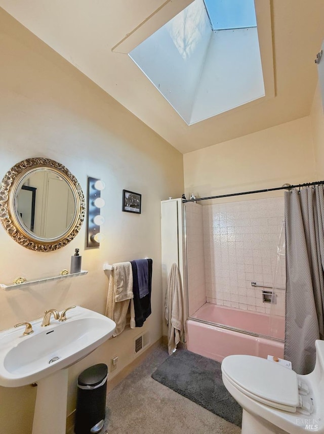
[[[194,0],[129,56],[188,125],[265,96],[253,0]]]

